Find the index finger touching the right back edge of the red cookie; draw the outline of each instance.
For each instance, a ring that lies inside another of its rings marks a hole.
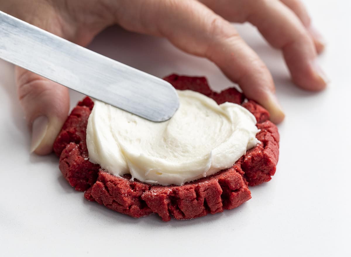
[[[284,119],[269,70],[228,21],[197,1],[148,1],[143,7],[134,13],[138,22],[131,25],[133,18],[121,14],[119,24],[164,36],[187,53],[210,59],[248,98],[267,108],[274,123]]]

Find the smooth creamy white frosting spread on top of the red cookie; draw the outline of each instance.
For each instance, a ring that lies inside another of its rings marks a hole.
[[[256,119],[244,107],[177,92],[179,109],[161,123],[95,100],[86,136],[90,161],[116,176],[183,185],[231,167],[259,142]]]

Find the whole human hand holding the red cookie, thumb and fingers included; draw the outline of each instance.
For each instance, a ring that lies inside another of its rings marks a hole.
[[[313,91],[326,86],[315,62],[324,44],[299,0],[12,0],[1,1],[0,10],[82,46],[113,24],[166,37],[181,50],[213,61],[248,98],[267,108],[275,123],[284,113],[271,74],[229,21],[257,26],[283,51],[296,85]],[[32,126],[31,151],[50,153],[69,111],[68,89],[19,67],[15,74]]]

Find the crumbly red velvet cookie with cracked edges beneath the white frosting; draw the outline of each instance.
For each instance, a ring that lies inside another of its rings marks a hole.
[[[203,77],[170,75],[164,78],[178,90],[193,90],[207,95],[218,104],[241,104],[257,119],[261,144],[248,150],[231,168],[186,183],[183,186],[157,186],[131,181],[130,174],[116,177],[88,159],[86,126],[94,103],[88,97],[78,103],[55,140],[54,151],[59,167],[76,190],[85,198],[135,218],[157,213],[164,221],[191,219],[208,213],[233,209],[251,198],[249,186],[271,179],[279,155],[279,134],[269,113],[234,88],[213,92]]]

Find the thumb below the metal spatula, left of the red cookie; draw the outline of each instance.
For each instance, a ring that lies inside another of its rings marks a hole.
[[[67,119],[68,88],[23,68],[15,68],[18,97],[31,127],[31,152],[52,152],[55,138]]]

